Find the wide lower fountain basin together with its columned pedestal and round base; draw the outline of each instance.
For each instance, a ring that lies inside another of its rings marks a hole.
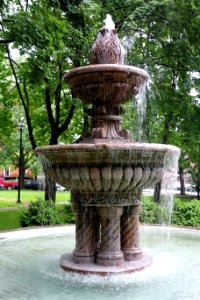
[[[36,152],[49,177],[71,190],[76,247],[71,259],[62,257],[64,270],[104,275],[151,264],[139,246],[142,189],[161,180],[164,171],[172,172],[177,147],[110,139],[107,144],[45,146]]]

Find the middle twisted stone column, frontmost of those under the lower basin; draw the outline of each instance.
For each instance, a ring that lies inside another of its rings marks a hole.
[[[124,262],[120,244],[120,217],[123,207],[98,207],[101,227],[101,243],[97,264],[119,266]]]

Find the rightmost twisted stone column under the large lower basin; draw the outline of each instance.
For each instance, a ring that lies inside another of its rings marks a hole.
[[[127,206],[121,220],[121,250],[124,259],[133,261],[142,258],[139,248],[139,214],[141,204]]]

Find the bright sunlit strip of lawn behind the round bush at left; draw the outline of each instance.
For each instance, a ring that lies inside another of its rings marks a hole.
[[[29,204],[31,201],[37,201],[39,198],[44,198],[44,191],[32,191],[32,190],[22,190],[21,201],[22,203],[17,203],[17,190],[0,190],[0,208],[2,207],[22,207]],[[56,203],[66,202],[70,200],[70,192],[58,191],[56,192]]]

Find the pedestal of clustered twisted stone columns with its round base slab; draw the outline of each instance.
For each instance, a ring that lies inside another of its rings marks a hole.
[[[104,201],[106,196],[108,193],[102,195]],[[112,197],[115,199],[114,193]],[[107,201],[110,199],[111,195]],[[131,273],[149,266],[152,258],[139,247],[140,207],[140,200],[129,206],[73,204],[76,247],[73,255],[61,257],[61,267],[65,271],[107,275]]]

